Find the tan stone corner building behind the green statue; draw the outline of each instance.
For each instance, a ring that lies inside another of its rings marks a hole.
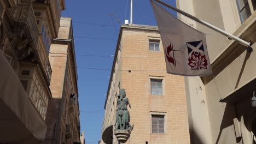
[[[114,127],[120,88],[130,100],[134,125],[125,143],[189,143],[184,77],[166,73],[158,27],[121,26],[100,143],[118,143]]]

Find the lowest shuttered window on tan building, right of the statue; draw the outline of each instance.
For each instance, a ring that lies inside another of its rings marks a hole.
[[[152,115],[152,133],[165,133],[164,115]]]

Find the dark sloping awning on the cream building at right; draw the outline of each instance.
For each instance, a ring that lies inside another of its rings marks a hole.
[[[253,97],[253,91],[256,91],[256,77],[249,80],[245,85],[236,88],[233,92],[220,99],[223,103],[236,103],[237,101]]]

